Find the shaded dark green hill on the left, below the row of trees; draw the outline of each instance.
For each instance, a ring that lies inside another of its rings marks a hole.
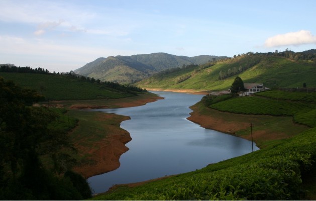
[[[139,91],[116,83],[97,83],[69,75],[0,72],[5,81],[45,95],[48,100],[108,99],[134,96]]]

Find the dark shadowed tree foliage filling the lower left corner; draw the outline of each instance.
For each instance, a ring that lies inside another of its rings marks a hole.
[[[73,147],[67,133],[49,127],[56,122],[58,114],[48,108],[32,107],[43,99],[36,91],[23,89],[0,77],[2,200],[84,198],[73,183],[60,174],[69,170],[64,164],[73,162],[67,155]],[[58,176],[43,166],[42,155],[51,156]]]

